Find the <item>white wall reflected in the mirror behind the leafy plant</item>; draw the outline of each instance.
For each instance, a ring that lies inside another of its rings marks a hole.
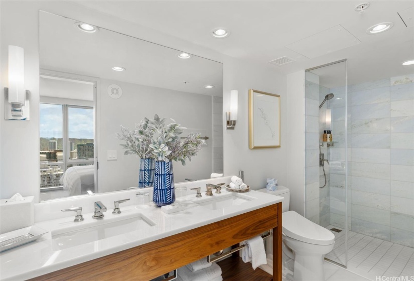
[[[122,88],[122,96],[112,99],[106,92],[111,84]],[[123,155],[119,146],[124,143],[115,137],[120,125],[135,128],[135,123],[158,114],[167,118],[168,125],[173,118],[187,127],[182,134],[190,132],[208,136],[206,145],[186,166],[173,162],[175,182],[184,182],[185,178],[206,179],[212,173],[213,163],[213,97],[187,92],[173,91],[144,85],[100,80],[98,115],[98,191],[107,192],[138,185],[139,158],[135,155]],[[117,160],[107,160],[107,150],[117,151]]]

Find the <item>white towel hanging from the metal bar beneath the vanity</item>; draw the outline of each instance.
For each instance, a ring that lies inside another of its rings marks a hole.
[[[260,235],[244,240],[242,244],[245,247],[241,249],[241,258],[244,262],[251,261],[253,269],[267,263],[266,251],[264,250],[263,239]]]

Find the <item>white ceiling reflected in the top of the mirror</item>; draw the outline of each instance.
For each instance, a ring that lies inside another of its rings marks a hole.
[[[85,33],[75,23],[72,19],[40,12],[42,69],[222,96],[222,63],[198,56],[180,59],[181,52],[177,50],[102,28],[99,32]],[[114,71],[114,66],[126,70]],[[215,87],[206,89],[204,85]]]

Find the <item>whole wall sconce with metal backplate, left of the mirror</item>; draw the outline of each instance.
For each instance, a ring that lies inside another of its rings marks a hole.
[[[5,119],[29,120],[29,90],[25,89],[24,49],[9,46],[9,87],[5,88]]]

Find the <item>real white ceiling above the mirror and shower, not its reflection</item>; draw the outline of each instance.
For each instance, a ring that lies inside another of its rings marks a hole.
[[[77,4],[247,61],[268,65],[268,61],[283,56],[296,60],[272,66],[283,74],[344,58],[348,60],[349,84],[413,73],[414,66],[401,66],[401,62],[414,59],[414,31],[412,25],[404,25],[397,13],[413,7],[414,1],[372,0],[370,7],[360,14],[354,8],[362,2],[365,0],[79,1]],[[369,27],[381,22],[393,22],[394,27],[384,33],[366,34]],[[361,43],[337,51],[327,48],[323,55],[312,59],[286,47],[338,25]],[[225,39],[213,38],[210,32],[217,27],[229,29],[231,35]]]

